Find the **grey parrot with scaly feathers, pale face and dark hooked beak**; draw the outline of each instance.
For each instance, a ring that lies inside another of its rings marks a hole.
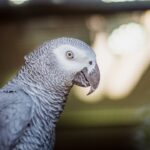
[[[0,150],[53,150],[71,87],[90,86],[90,94],[99,80],[95,53],[84,42],[62,37],[43,43],[0,89]]]

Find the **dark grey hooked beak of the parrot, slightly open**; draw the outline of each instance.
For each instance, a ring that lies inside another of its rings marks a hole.
[[[78,72],[74,78],[74,84],[82,87],[90,86],[90,91],[87,95],[93,93],[100,81],[100,71],[98,65],[96,64],[95,67],[88,71],[88,68],[83,68],[80,72]]]

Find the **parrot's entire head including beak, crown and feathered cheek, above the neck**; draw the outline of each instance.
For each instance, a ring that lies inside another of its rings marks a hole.
[[[35,80],[47,85],[53,81],[57,87],[62,82],[66,85],[90,86],[88,94],[99,85],[100,71],[96,55],[90,46],[78,39],[62,37],[47,41],[25,56],[25,64],[32,78],[38,78]]]

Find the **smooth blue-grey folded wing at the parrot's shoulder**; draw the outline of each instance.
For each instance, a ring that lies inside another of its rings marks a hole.
[[[22,90],[0,91],[0,149],[10,149],[30,122],[34,104]]]

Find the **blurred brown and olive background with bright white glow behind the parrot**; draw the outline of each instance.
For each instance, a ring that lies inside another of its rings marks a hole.
[[[150,150],[149,0],[0,0],[0,86],[45,40],[91,45],[98,90],[74,87],[55,150]]]

